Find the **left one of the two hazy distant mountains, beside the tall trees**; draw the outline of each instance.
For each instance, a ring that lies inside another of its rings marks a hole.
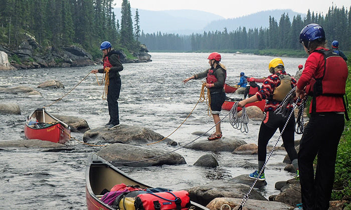
[[[116,18],[120,20],[121,8],[113,9]],[[135,8],[131,8],[134,21]],[[203,28],[213,20],[225,19],[224,17],[206,11],[181,9],[151,11],[138,9],[140,28],[144,33],[161,31],[162,33],[192,34],[202,33]]]

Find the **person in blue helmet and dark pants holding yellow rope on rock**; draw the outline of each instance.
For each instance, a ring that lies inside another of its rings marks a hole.
[[[121,91],[121,78],[119,71],[123,70],[123,65],[119,60],[119,53],[111,49],[111,43],[104,41],[100,45],[100,50],[103,55],[103,68],[93,69],[91,73],[107,73],[108,72],[108,87],[107,87],[107,104],[110,120],[105,124],[107,129],[115,129],[119,126],[118,98]]]

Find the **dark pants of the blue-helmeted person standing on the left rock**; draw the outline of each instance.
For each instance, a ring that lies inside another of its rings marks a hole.
[[[114,77],[110,78],[108,89],[107,89],[107,103],[108,103],[108,114],[110,115],[109,122],[113,125],[119,124],[119,113],[118,113],[118,98],[119,92],[121,91],[121,78]]]

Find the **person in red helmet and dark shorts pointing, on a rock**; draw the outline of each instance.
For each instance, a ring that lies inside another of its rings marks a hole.
[[[218,52],[212,52],[209,57],[210,68],[204,72],[195,74],[189,78],[183,80],[187,83],[190,79],[201,79],[206,77],[206,87],[210,91],[211,95],[211,111],[212,116],[216,124],[216,131],[212,133],[208,139],[215,140],[222,137],[221,130],[221,118],[219,114],[222,110],[222,104],[226,99],[226,93],[224,91],[224,84],[226,83],[227,70],[226,67],[220,63],[221,54]]]

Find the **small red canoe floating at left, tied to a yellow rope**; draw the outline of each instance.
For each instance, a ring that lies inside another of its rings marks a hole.
[[[70,139],[70,134],[70,126],[51,115],[44,108],[33,111],[26,120],[25,135],[28,139],[65,143]]]

